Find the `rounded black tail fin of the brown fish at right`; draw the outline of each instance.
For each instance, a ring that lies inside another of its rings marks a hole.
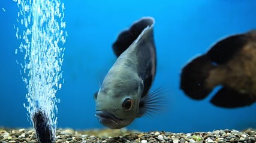
[[[206,88],[206,79],[214,67],[207,55],[195,58],[182,69],[180,89],[195,100],[207,97],[212,89]]]

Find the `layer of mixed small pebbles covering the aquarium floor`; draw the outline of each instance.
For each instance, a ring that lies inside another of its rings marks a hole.
[[[56,142],[256,142],[255,130],[213,130],[213,132],[171,133],[164,131],[138,132],[120,130],[85,130],[57,129]],[[0,129],[0,142],[37,142],[34,129]]]

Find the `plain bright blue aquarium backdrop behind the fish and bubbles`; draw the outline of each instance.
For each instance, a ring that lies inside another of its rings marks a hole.
[[[180,72],[189,60],[225,36],[256,29],[256,1],[61,2],[68,37],[62,66],[65,83],[56,94],[61,99],[58,128],[104,128],[94,116],[93,95],[115,63],[112,43],[119,32],[145,16],[155,18],[158,67],[152,89],[165,88],[167,104],[162,114],[135,119],[127,128],[169,132],[256,128],[256,104],[220,108],[210,104],[212,96],[195,101],[179,89]],[[0,1],[0,126],[7,128],[32,126],[23,107],[28,91],[16,63],[24,57],[15,54],[20,45],[13,27],[18,11],[16,2]]]

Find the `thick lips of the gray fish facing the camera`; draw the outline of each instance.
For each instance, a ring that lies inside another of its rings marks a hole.
[[[107,111],[101,111],[97,110],[95,113],[95,116],[98,118],[98,120],[102,122],[113,122],[116,124],[121,124],[122,119],[119,119],[118,117],[114,116],[113,114],[110,114]]]

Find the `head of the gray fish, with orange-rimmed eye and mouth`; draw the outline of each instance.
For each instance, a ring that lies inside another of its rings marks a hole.
[[[141,89],[125,92],[122,87],[100,89],[94,94],[95,116],[99,122],[110,129],[128,126],[138,114]]]

